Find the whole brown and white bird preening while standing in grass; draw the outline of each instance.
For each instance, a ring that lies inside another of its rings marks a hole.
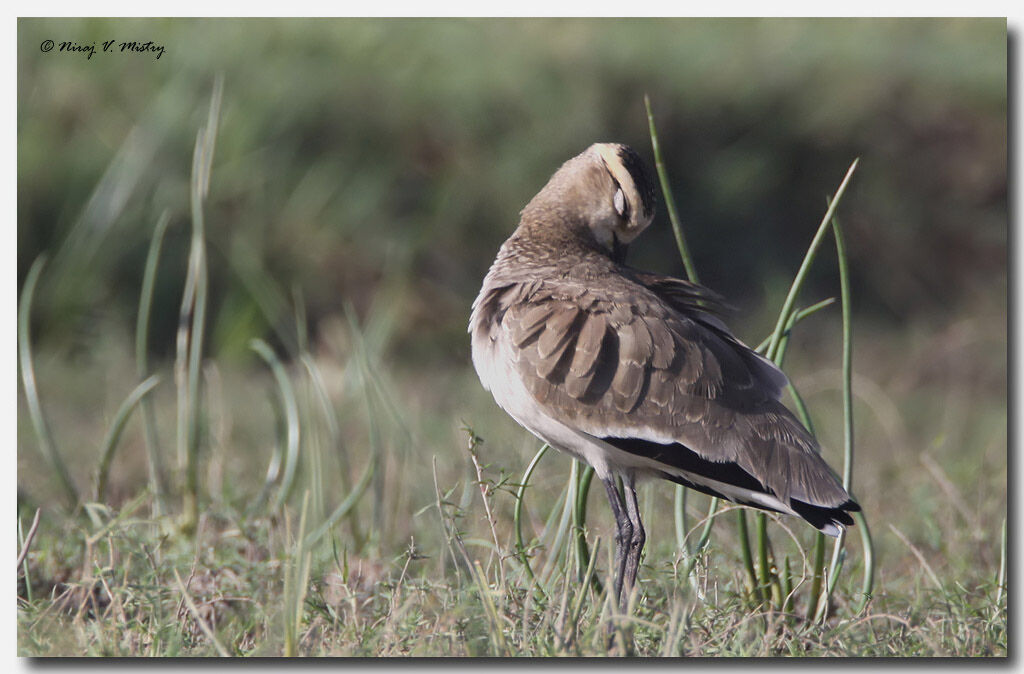
[[[626,264],[654,199],[629,145],[594,143],[566,161],[520,212],[468,328],[496,403],[603,482],[624,612],[646,541],[638,480],[795,515],[833,537],[860,510],[781,403],[786,376],[722,321],[723,298]]]

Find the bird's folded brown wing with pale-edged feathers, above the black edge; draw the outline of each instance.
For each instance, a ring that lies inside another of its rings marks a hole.
[[[734,464],[783,502],[850,503],[778,402],[784,376],[708,318],[708,296],[601,281],[535,281],[501,319],[516,372],[547,414],[595,437],[679,445]]]

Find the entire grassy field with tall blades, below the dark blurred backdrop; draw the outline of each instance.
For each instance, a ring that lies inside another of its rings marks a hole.
[[[166,224],[139,269],[134,344],[111,323],[85,356],[35,352],[41,262],[23,287],[19,532],[42,515],[18,541],[20,655],[594,656],[618,632],[612,655],[1006,656],[1006,399],[986,357],[1005,340],[997,321],[967,336],[839,326],[824,302],[797,311],[795,284],[767,347],[785,348],[823,447],[850,447],[861,420],[847,479],[857,472],[865,512],[886,523],[877,550],[837,547],[822,575],[823,540],[799,522],[766,516],[752,549],[741,530],[710,526],[745,525],[744,510],[644,485],[649,548],[623,615],[602,591],[611,522],[587,471],[542,456],[468,364],[389,359],[384,291],[314,343],[296,294],[292,357],[252,342],[266,368],[207,352],[203,203],[220,90],[196,144],[173,363],[138,343]],[[822,236],[839,233],[838,197]],[[841,304],[848,317],[845,292]],[[798,317],[804,329],[788,330]],[[866,365],[853,370],[858,330]],[[929,370],[936,349],[965,364],[957,379]],[[761,584],[771,601],[752,601]]]

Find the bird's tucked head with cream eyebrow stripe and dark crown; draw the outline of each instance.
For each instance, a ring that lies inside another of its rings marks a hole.
[[[544,219],[551,211],[586,226],[608,255],[626,247],[654,217],[654,184],[629,145],[597,142],[565,162],[523,210]]]

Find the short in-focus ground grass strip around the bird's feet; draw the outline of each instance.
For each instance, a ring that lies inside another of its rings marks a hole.
[[[494,479],[496,470],[484,476]],[[442,489],[458,494],[459,487]],[[645,498],[657,503],[660,496],[648,491]],[[386,554],[354,550],[335,531],[305,557],[289,532],[302,531],[295,510],[245,517],[211,507],[190,541],[139,516],[148,498],[105,513],[95,529],[48,513],[29,557],[34,598],[18,609],[23,655],[283,655],[290,647],[309,656],[598,655],[606,627],[621,620],[579,582],[571,565],[554,567],[547,599],[529,591],[511,558],[501,577],[493,546],[482,538],[487,525],[477,516],[477,498],[472,511],[442,502],[443,517],[426,506],[411,518],[415,534],[400,532],[410,534],[408,545],[389,542]],[[510,520],[501,513],[513,498],[501,491],[490,498],[500,540],[511,550]],[[541,497],[530,504],[543,516]],[[595,513],[592,536],[607,541],[609,524],[601,514]],[[444,538],[430,534],[436,526],[430,520],[438,518],[450,532]],[[660,523],[652,530],[668,533]],[[1006,599],[995,599],[994,575],[962,575],[949,567],[951,560],[933,559],[939,565],[934,574],[949,579],[937,584],[910,548],[890,548],[869,609],[844,617],[854,613],[857,597],[856,587],[841,582],[834,606],[841,618],[817,626],[771,609],[751,610],[727,536],[716,536],[709,547],[693,589],[679,574],[684,559],[660,541],[647,554],[643,599],[629,623],[637,655],[1005,654]],[[443,560],[447,544],[457,549],[462,573]],[[954,536],[949,544],[963,542]],[[599,562],[591,571],[607,583],[604,548],[596,547]],[[535,555],[543,561],[546,550]],[[56,584],[54,572],[63,574]],[[308,583],[297,585],[305,574]]]

